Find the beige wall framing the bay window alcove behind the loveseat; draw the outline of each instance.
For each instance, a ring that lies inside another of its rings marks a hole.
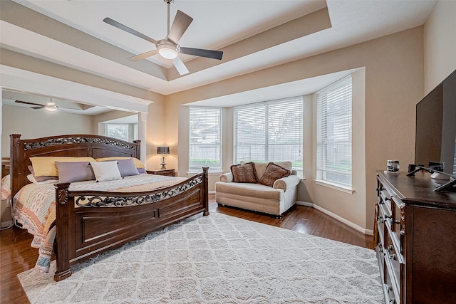
[[[313,176],[306,177],[299,187],[299,200],[309,200],[363,229],[372,229],[375,206],[375,171],[385,169],[386,159],[399,159],[404,167],[412,163],[415,146],[415,104],[423,95],[423,27],[412,28],[390,36],[349,46],[318,56],[259,70],[237,78],[230,78],[199,88],[166,96],[166,122],[169,142],[179,142],[180,130],[176,122],[187,122],[179,117],[180,105],[214,98],[279,83],[311,78],[353,68],[365,68],[365,117],[354,117],[357,136],[356,154],[366,154],[354,177],[359,182],[355,194],[325,188],[318,191]],[[265,97],[267,99],[267,97]],[[362,116],[356,108],[354,115]],[[365,121],[365,122],[363,122]],[[364,123],[364,130],[363,129]],[[185,154],[185,143],[179,142]],[[232,149],[232,147],[225,147]],[[180,155],[181,157],[184,157]],[[179,168],[185,164],[179,163]],[[313,166],[313,164],[311,164]],[[366,170],[363,170],[366,167]],[[355,167],[356,169],[356,167]],[[364,184],[366,184],[364,186]],[[318,199],[317,199],[318,198]]]

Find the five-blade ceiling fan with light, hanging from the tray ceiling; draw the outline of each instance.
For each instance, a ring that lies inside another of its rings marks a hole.
[[[128,59],[130,59],[130,61],[140,61],[159,53],[163,58],[172,60],[172,63],[180,75],[190,73],[183,61],[179,58],[180,53],[221,60],[223,56],[222,51],[204,50],[202,48],[185,48],[177,44],[180,38],[182,38],[182,35],[185,33],[185,31],[187,31],[190,23],[192,23],[193,18],[185,13],[182,13],[182,11],[177,10],[177,14],[170,28],[170,4],[172,4],[173,0],[164,1],[167,4],[167,36],[163,39],[160,39],[159,41],[156,41],[155,39],[150,38],[143,33],[135,31],[133,28],[129,28],[128,26],[125,26],[122,23],[119,23],[118,21],[115,21],[108,17],[103,19],[105,23],[108,23],[111,26],[115,26],[116,28],[120,28],[123,31],[154,43],[157,48],[156,50],[132,56]]]

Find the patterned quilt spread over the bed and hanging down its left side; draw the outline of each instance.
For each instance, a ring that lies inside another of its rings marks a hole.
[[[109,182],[74,182],[71,191],[145,192],[184,181],[184,177],[140,174]],[[4,194],[2,182],[2,196]],[[13,218],[33,234],[31,246],[38,249],[35,269],[48,272],[56,238],[56,189],[53,184],[27,184],[14,196]]]

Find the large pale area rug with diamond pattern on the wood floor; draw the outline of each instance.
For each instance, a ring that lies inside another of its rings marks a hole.
[[[383,303],[375,252],[224,214],[193,216],[53,281],[18,277],[31,303]]]

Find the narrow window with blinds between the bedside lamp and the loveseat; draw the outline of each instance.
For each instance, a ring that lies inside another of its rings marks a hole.
[[[189,172],[222,172],[222,109],[190,107]]]

